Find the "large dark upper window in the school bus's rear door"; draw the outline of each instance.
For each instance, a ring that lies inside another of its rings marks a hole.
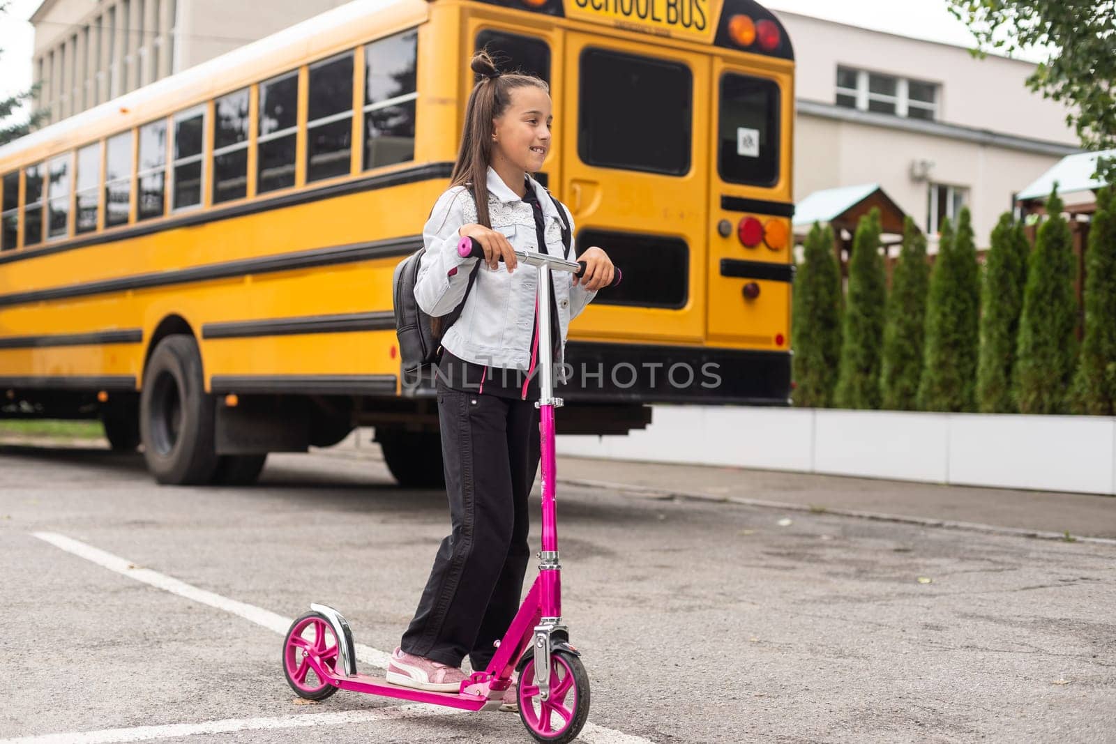
[[[577,152],[583,163],[668,175],[690,170],[690,68],[586,49],[580,80]]]

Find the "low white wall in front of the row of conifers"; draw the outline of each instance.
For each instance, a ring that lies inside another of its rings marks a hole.
[[[627,436],[558,454],[1116,495],[1116,418],[655,406]]]

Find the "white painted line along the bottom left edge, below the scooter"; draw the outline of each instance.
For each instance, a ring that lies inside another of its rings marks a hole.
[[[309,728],[317,726],[339,726],[345,724],[368,724],[377,721],[397,721],[426,716],[453,715],[453,708],[434,705],[400,705],[374,711],[338,711],[336,713],[306,713],[302,715],[276,716],[273,718],[225,718],[203,723],[173,723],[163,726],[136,726],[134,728],[105,728],[80,733],[45,734],[2,738],[0,744],[110,744],[114,742],[147,742],[153,738],[174,736],[198,736],[200,734],[229,734],[238,731],[266,728]]]

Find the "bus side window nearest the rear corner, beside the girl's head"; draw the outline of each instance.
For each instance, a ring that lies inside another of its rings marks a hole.
[[[365,47],[364,170],[415,156],[419,33],[404,31]]]

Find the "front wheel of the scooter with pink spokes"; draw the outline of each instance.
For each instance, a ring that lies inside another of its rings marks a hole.
[[[550,697],[539,695],[535,659],[519,675],[519,719],[540,742],[570,742],[589,718],[589,675],[581,659],[566,650],[550,655]]]

